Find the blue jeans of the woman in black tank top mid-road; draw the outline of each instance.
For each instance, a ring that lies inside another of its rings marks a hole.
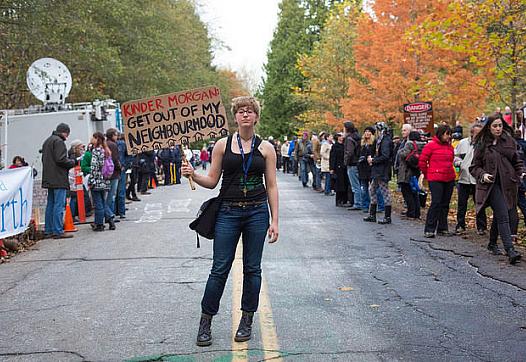
[[[255,312],[258,309],[261,256],[268,227],[269,211],[266,203],[250,207],[229,206],[226,203],[221,205],[216,221],[212,271],[201,301],[203,313],[216,315],[219,310],[219,302],[232,268],[240,235],[243,240],[241,310]]]

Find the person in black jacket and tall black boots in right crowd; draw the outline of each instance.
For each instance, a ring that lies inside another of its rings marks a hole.
[[[374,156],[368,156],[367,162],[371,165],[371,184],[369,186],[369,216],[364,218],[367,222],[376,222],[376,208],[378,205],[377,190],[383,196],[385,203],[384,218],[378,220],[379,224],[391,223],[391,196],[389,194],[389,180],[391,179],[391,163],[393,155],[393,141],[384,122],[376,123],[378,139]]]

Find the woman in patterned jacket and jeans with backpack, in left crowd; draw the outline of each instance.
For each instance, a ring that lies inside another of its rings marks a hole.
[[[113,214],[106,204],[106,194],[110,189],[109,176],[113,173],[110,167],[111,151],[101,132],[93,134],[91,143],[93,149],[91,151],[91,170],[88,183],[95,206],[95,222],[92,224],[92,228],[93,231],[104,231],[104,218],[106,218],[110,230],[115,230]]]

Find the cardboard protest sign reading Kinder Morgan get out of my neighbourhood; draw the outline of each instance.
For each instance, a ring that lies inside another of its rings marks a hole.
[[[121,114],[130,154],[228,134],[225,107],[214,86],[126,102]]]

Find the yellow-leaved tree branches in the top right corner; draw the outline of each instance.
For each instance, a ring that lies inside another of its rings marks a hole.
[[[429,14],[415,30],[422,43],[468,54],[471,66],[488,68],[481,85],[512,109],[526,101],[526,0],[445,1],[447,12]]]

